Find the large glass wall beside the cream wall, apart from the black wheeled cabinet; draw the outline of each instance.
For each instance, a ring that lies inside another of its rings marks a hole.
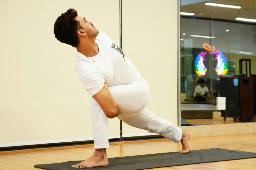
[[[216,98],[220,78],[239,74],[239,59],[256,74],[256,1],[181,0],[180,9],[182,125],[240,122],[224,121]]]

